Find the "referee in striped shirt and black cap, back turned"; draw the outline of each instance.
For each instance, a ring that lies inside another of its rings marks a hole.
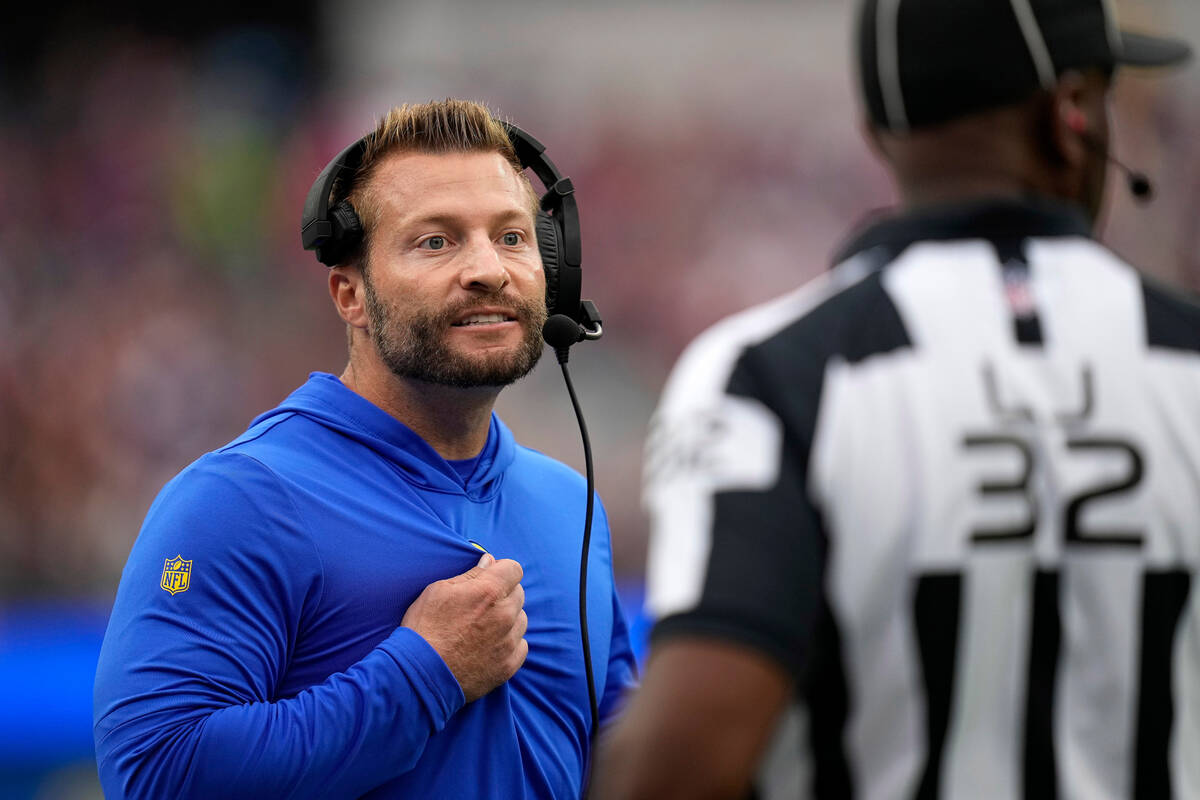
[[[1200,798],[1200,307],[1091,239],[1112,70],[1188,49],[1109,13],[863,5],[901,207],[672,374],[595,800]]]

